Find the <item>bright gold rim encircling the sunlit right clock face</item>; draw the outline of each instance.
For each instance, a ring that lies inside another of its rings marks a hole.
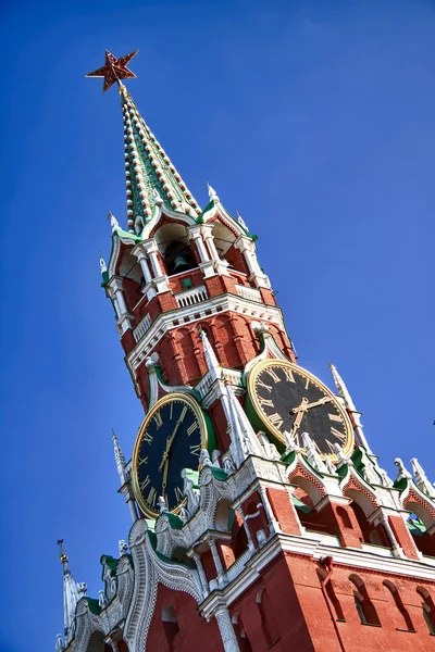
[[[347,439],[346,439],[346,447],[344,447],[343,450],[344,450],[345,455],[349,455],[355,448],[355,434],[353,434],[353,426],[351,424],[348,413],[341,406],[340,402],[337,400],[337,397],[334,394],[334,392],[328,387],[326,387],[326,385],[324,385],[324,383],[322,383],[322,380],[320,380],[320,378],[314,376],[314,374],[307,371],[304,367],[301,367],[298,364],[295,364],[287,360],[278,360],[278,359],[274,359],[274,358],[268,358],[266,360],[262,360],[262,361],[258,362],[250,369],[249,375],[248,375],[247,389],[248,389],[249,399],[252,402],[252,405],[253,405],[259,418],[264,424],[264,426],[268,428],[268,430],[274,437],[276,437],[276,439],[281,443],[284,443],[284,444],[286,443],[284,435],[281,432],[281,430],[278,430],[278,428],[276,428],[276,426],[274,426],[272,424],[272,422],[269,421],[268,415],[265,414],[264,410],[261,408],[260,402],[257,397],[257,391],[256,391],[257,376],[259,375],[260,372],[262,372],[264,368],[266,368],[269,366],[288,367],[288,368],[299,373],[301,376],[310,378],[310,380],[312,380],[314,385],[316,385],[319,388],[321,388],[325,394],[331,397],[331,399],[334,401],[334,405],[337,408],[338,412],[343,416],[343,421],[346,426]],[[303,452],[303,449],[301,449],[301,450]],[[327,453],[323,453],[322,457],[330,457],[334,462],[337,460],[337,455],[330,455]]]

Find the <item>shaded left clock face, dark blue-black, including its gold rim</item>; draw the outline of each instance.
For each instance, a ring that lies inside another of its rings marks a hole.
[[[171,512],[184,500],[183,468],[198,468],[201,448],[207,448],[207,426],[198,404],[189,396],[167,394],[147,414],[133,453],[133,487],[147,516],[159,515],[162,496]]]

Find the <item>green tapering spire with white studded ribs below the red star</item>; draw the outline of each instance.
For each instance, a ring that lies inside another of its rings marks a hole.
[[[163,204],[196,217],[201,212],[197,202],[121,83],[120,95],[124,117],[128,230],[136,233],[138,217],[145,226],[156,205]]]

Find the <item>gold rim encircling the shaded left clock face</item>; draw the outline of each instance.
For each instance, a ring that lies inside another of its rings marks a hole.
[[[172,393],[165,394],[164,397],[159,399],[152,405],[150,411],[145,416],[142,423],[140,424],[139,431],[136,435],[136,441],[135,441],[135,447],[133,449],[133,457],[132,457],[132,481],[133,481],[133,492],[135,494],[137,504],[139,505],[141,512],[144,512],[144,514],[146,514],[148,517],[153,518],[153,519],[158,518],[159,512],[153,512],[152,510],[150,510],[141,494],[141,491],[139,489],[139,480],[137,477],[137,461],[138,461],[138,456],[139,456],[140,444],[142,442],[144,435],[148,428],[150,421],[154,416],[156,412],[158,412],[162,408],[162,405],[164,405],[165,403],[171,403],[172,401],[184,401],[194,410],[195,415],[198,418],[199,429],[201,432],[201,448],[207,449],[207,447],[208,447],[208,430],[207,430],[206,418],[204,418],[204,415],[202,414],[201,406],[198,404],[198,402],[192,397],[190,397],[189,394],[185,394],[183,392],[174,391]],[[181,503],[181,504],[183,504],[183,503]],[[179,514],[181,504],[178,504],[174,510],[171,510],[171,513]]]

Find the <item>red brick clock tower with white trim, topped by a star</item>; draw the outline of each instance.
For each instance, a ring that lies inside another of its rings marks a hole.
[[[427,650],[434,487],[417,459],[388,477],[334,365],[337,393],[297,364],[256,238],[211,186],[200,209],[121,82],[134,54],[90,75],[124,120],[127,220],[100,265],[146,413],[129,462],[113,437],[133,525],[98,601],[61,551],[57,649]]]

